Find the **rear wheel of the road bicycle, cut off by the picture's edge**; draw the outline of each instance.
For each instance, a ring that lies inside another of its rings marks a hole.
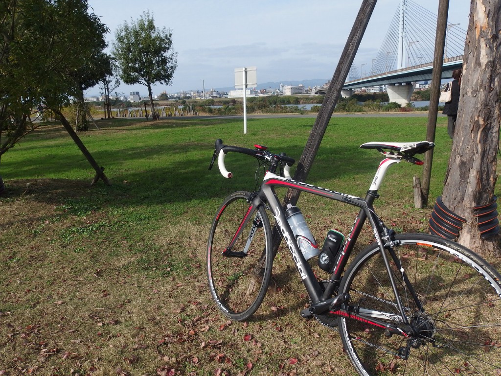
[[[501,374],[499,273],[472,251],[442,238],[402,234],[396,239],[398,262],[388,257],[414,334],[391,335],[368,323],[402,323],[379,247],[373,243],[351,263],[340,285],[340,291],[350,295],[348,310],[367,318],[340,319],[343,345],[358,373]],[[404,274],[410,283],[404,282]]]

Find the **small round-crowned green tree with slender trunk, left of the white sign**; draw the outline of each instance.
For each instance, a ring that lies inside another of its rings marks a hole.
[[[153,16],[145,12],[136,22],[124,22],[116,30],[112,46],[121,80],[127,85],[141,84],[148,88],[151,115],[158,119],[151,86],[157,82],[170,85],[177,68],[171,30],[157,28]]]

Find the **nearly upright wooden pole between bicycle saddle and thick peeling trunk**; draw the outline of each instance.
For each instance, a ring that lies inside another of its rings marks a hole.
[[[440,82],[442,80],[443,51],[445,48],[445,33],[447,32],[447,15],[449,13],[449,0],[440,0],[438,3],[437,30],[435,37],[435,52],[433,56],[433,72],[431,73],[430,105],[428,107],[428,125],[426,127],[426,141],[435,141],[437,126],[438,99],[440,97]],[[424,208],[428,205],[430,192],[431,165],[433,163],[433,149],[424,154],[423,179],[421,181],[421,205],[416,208]],[[418,195],[415,195],[418,196]]]

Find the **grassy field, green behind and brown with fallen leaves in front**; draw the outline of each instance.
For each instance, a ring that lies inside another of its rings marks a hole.
[[[221,200],[253,190],[257,164],[230,154],[224,179],[207,167],[216,138],[267,145],[299,159],[313,118],[101,121],[80,134],[112,181],[94,171],[61,126],[48,125],[2,157],[0,375],[353,374],[337,333],[299,312],[308,303],[289,254],[248,322],[228,322],[207,289],[206,239]],[[451,140],[438,119],[430,205],[441,193]],[[364,196],[381,156],[368,141],[418,141],[425,117],[333,118],[308,182]],[[408,163],[390,170],[376,209],[397,231],[426,231],[413,208]],[[499,195],[499,194],[498,194]],[[303,195],[322,242],[355,212]],[[369,232],[360,247],[370,242]],[[327,275],[317,270],[319,278]]]

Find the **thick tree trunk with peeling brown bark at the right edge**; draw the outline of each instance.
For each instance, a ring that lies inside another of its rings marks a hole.
[[[474,207],[494,200],[501,121],[501,0],[473,0],[460,81],[459,109],[442,200],[466,223],[458,242],[500,257],[499,235],[482,239]]]

